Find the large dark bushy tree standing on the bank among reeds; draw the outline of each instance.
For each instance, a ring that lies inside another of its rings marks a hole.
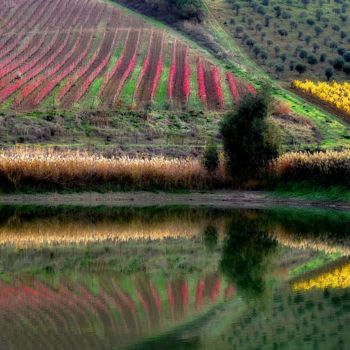
[[[248,94],[237,111],[229,112],[221,124],[227,170],[237,179],[257,178],[278,156],[276,130],[267,121],[271,113],[267,87]]]

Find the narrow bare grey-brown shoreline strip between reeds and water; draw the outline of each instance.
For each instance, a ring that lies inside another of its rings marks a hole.
[[[337,200],[312,200],[298,197],[276,196],[264,191],[212,191],[190,193],[167,192],[79,192],[2,194],[0,205],[42,206],[107,206],[152,207],[187,205],[192,207],[217,207],[232,209],[267,209],[273,207],[313,208],[350,211],[350,202]]]

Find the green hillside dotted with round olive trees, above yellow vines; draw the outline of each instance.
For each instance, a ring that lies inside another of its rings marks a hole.
[[[348,79],[349,5],[335,0],[210,1],[217,19],[251,59],[281,80]]]

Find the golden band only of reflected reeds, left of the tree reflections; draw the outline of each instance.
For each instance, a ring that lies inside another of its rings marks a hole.
[[[106,241],[191,239],[199,236],[207,225],[206,220],[196,223],[169,220],[154,224],[145,224],[144,222],[97,222],[93,224],[38,220],[21,225],[11,225],[10,223],[0,227],[0,245],[29,248]]]

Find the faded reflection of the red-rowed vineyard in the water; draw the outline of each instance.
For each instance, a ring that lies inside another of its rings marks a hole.
[[[194,295],[185,278],[168,281],[166,291],[145,275],[135,279],[133,292],[110,276],[98,283],[92,293],[67,278],[55,287],[37,279],[1,282],[1,348],[111,349],[171,328],[234,292],[215,273],[199,279]]]

